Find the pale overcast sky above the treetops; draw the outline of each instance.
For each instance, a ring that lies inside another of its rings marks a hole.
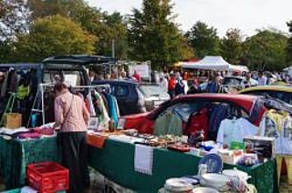
[[[122,15],[141,8],[141,0],[88,0],[89,5]],[[252,36],[255,29],[274,27],[287,32],[286,22],[292,20],[292,0],[172,0],[176,22],[183,31],[200,20],[217,28],[224,36],[228,28],[239,28],[244,36]]]

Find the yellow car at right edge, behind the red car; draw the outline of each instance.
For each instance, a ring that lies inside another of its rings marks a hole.
[[[238,93],[255,96],[271,96],[278,98],[292,106],[291,86],[255,86],[240,90]]]

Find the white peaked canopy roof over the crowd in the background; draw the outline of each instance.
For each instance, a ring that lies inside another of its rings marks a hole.
[[[230,65],[222,56],[205,56],[198,62],[183,63],[182,67],[204,70],[228,70]]]

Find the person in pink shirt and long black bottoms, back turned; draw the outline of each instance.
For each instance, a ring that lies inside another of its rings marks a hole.
[[[89,111],[79,96],[68,91],[64,83],[54,87],[55,125],[60,127],[57,135],[62,151],[62,163],[69,170],[69,192],[83,193],[89,188],[87,166],[87,124]]]

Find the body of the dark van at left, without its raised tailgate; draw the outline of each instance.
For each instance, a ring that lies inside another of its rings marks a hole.
[[[17,93],[18,87],[25,79],[29,85],[28,96],[15,100],[13,111],[23,115],[23,126],[28,125],[29,115],[32,108],[40,109],[41,101],[34,106],[38,85],[40,83],[55,84],[57,80],[74,80],[76,85],[87,85],[88,76],[82,66],[60,65],[60,64],[0,64],[0,71],[5,73],[6,86],[3,88],[5,95],[0,100],[0,117],[5,113],[6,104],[11,98],[11,93]],[[44,109],[46,122],[54,121],[54,98],[50,95],[51,89],[45,89]],[[40,98],[40,96],[39,96]],[[19,107],[22,102],[22,107]],[[18,106],[16,105],[18,103]],[[40,118],[41,116],[38,116]],[[37,119],[37,122],[39,120]]]

